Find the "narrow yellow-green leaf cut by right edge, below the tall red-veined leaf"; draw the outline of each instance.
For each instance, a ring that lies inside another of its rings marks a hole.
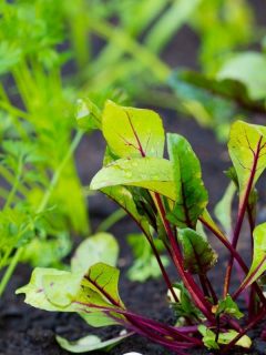
[[[244,280],[245,287],[249,286],[266,271],[266,223],[259,224],[253,232],[254,252],[249,272]]]

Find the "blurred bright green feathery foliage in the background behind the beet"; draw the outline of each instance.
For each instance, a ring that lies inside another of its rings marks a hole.
[[[184,27],[191,68],[175,61]],[[58,264],[71,234],[91,233],[78,99],[174,109],[224,140],[234,118],[265,112],[265,39],[247,0],[1,1],[0,293],[19,260]]]

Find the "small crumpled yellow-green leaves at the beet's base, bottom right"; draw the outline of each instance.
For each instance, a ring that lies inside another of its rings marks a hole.
[[[231,343],[238,333],[234,329],[229,329],[227,333],[219,333],[218,344],[215,342],[216,334],[208,329],[205,325],[198,326],[198,332],[203,335],[203,343],[207,348],[219,349],[219,345],[226,345]],[[252,346],[252,341],[247,335],[243,335],[236,345],[242,346],[244,348],[249,348]]]

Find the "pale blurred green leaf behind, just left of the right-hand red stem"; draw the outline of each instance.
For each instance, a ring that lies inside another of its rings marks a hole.
[[[232,203],[236,193],[236,186],[234,182],[231,182],[222,197],[216,204],[214,213],[216,219],[224,227],[227,235],[232,232]]]

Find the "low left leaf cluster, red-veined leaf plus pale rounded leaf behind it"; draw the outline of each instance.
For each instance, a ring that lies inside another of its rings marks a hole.
[[[101,310],[112,308],[114,305],[123,307],[117,293],[119,271],[100,262],[104,260],[103,248],[109,250],[105,261],[115,263],[115,240],[110,234],[99,233],[78,247],[70,272],[37,267],[30,283],[17,293],[24,293],[25,303],[34,307],[81,313],[85,322],[93,326],[115,324],[116,322]]]

